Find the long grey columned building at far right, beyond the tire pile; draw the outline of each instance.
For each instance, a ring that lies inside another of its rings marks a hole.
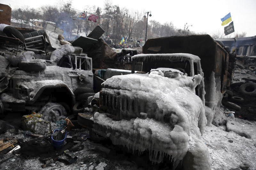
[[[216,39],[223,42],[224,46],[229,46],[231,52],[236,47],[237,55],[256,56],[256,36],[236,38],[219,38]]]

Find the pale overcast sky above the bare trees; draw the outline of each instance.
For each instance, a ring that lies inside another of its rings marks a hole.
[[[63,0],[66,1],[66,0]],[[103,7],[105,0],[72,0],[72,8],[84,11],[86,5]],[[246,36],[256,35],[256,0],[112,0],[112,4],[133,11],[151,11],[152,17],[161,22],[172,22],[176,28],[185,23],[192,25],[197,33],[224,33],[220,18],[229,12],[234,22],[235,32],[246,32]],[[1,0],[12,9],[29,6],[57,5],[60,0]],[[227,25],[226,25],[227,26]],[[233,36],[233,33],[229,36]],[[228,37],[228,36],[226,36]]]

